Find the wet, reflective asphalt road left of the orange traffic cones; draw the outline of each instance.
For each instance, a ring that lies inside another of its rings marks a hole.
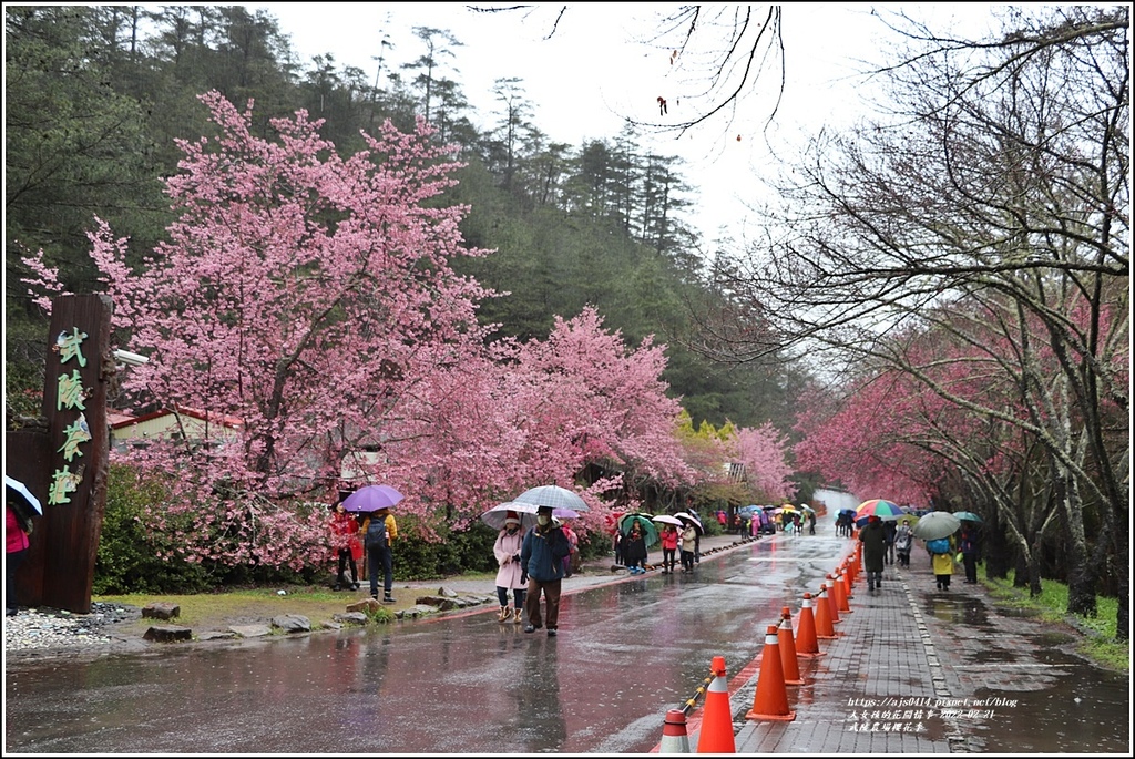
[[[633,753],[714,656],[747,663],[842,558],[777,535],[565,596],[558,638],[478,613],[365,630],[9,665],[6,751]]]

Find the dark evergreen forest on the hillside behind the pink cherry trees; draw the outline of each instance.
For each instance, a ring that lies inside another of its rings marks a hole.
[[[724,296],[684,217],[697,187],[680,160],[644,151],[631,127],[581,145],[549,142],[522,78],[498,81],[495,102],[471,103],[445,75],[460,45],[446,31],[415,31],[396,45],[409,60],[379,60],[375,76],[331,54],[297,60],[276,19],[243,6],[6,7],[9,411],[37,412],[48,347],[20,256],[42,248],[72,292],[92,293],[95,216],[132,251],[152,251],[171,220],[161,183],[177,171],[175,141],[207,133],[197,96],[216,90],[238,108],[254,101],[266,136],[271,118],[305,109],[343,154],[363,146],[360,129],[389,119],[407,132],[427,117],[465,163],[444,202],[468,205],[469,246],[496,251],[463,261],[462,273],[510,293],[484,304],[484,323],[498,336],[546,337],[556,315],[594,306],[629,345],[653,335],[666,346],[663,379],[695,428],[771,422],[789,433],[801,382],[790,363],[715,363],[688,347],[691,304]]]

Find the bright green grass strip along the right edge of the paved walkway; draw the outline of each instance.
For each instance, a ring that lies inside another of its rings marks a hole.
[[[1084,633],[1077,650],[1101,667],[1130,672],[1130,641],[1116,640],[1116,610],[1119,607],[1117,599],[1102,596],[1096,598],[1096,616],[1084,617],[1068,614],[1068,585],[1065,583],[1045,580],[1041,584],[1041,594],[1032,598],[1027,588],[1014,588],[1011,573],[1007,580],[990,579],[985,574],[985,566],[982,565],[980,577],[989,589],[990,596],[999,601],[1034,609],[1040,613],[1042,619],[1049,622],[1071,623]]]

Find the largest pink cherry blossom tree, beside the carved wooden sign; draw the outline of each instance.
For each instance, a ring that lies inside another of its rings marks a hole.
[[[169,241],[135,267],[100,222],[92,256],[116,326],[150,356],[125,389],[140,407],[241,420],[238,439],[217,424],[126,457],[166,482],[146,518],[178,525],[186,558],[299,567],[326,538],[326,507],[304,501],[334,490],[344,454],[381,445],[387,428],[405,437],[422,388],[480,355],[476,304],[489,293],[451,261],[484,252],[462,246],[462,206],[429,205],[457,165],[423,121],[413,134],[386,124],[340,158],[303,111],[272,120],[268,140],[251,104],[201,100],[217,134],[180,143]],[[412,495],[405,507],[424,508]]]

